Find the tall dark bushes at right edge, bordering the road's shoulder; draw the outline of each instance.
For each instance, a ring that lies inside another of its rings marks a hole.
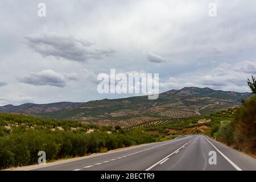
[[[221,122],[220,129],[214,135],[221,141],[238,150],[256,155],[256,78],[252,76],[247,84],[254,96],[243,101],[232,121]]]

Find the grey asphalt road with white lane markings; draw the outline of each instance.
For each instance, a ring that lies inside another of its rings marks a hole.
[[[216,154],[216,164],[209,152]],[[92,155],[68,162],[48,163],[26,170],[256,170],[256,159],[204,135],[188,135],[166,142]]]

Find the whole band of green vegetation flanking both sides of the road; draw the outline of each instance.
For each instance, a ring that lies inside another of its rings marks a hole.
[[[172,139],[171,135],[206,134],[256,155],[256,78],[248,80],[254,96],[241,107],[190,118],[168,118],[136,127],[96,126],[76,121],[0,114],[0,169],[106,152],[136,144]]]

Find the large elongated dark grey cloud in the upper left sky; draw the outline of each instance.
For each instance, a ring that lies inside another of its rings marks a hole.
[[[28,47],[43,56],[53,56],[73,61],[102,59],[114,53],[113,49],[96,49],[93,43],[57,34],[24,36]]]

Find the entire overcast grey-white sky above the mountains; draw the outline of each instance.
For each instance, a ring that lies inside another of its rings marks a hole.
[[[123,97],[97,92],[97,75],[110,68],[159,73],[160,92],[247,92],[256,75],[255,18],[251,0],[3,0],[0,105]]]

